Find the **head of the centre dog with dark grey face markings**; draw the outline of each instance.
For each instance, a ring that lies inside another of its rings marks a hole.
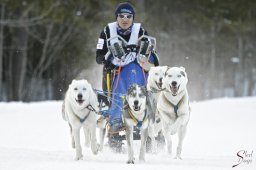
[[[134,113],[142,113],[146,109],[146,95],[145,87],[134,84],[128,89],[124,105],[128,104]]]

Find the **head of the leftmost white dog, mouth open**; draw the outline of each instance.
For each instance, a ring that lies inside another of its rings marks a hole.
[[[98,110],[97,96],[87,80],[73,80],[68,91],[70,99],[75,105],[86,107],[91,104],[94,109]]]

